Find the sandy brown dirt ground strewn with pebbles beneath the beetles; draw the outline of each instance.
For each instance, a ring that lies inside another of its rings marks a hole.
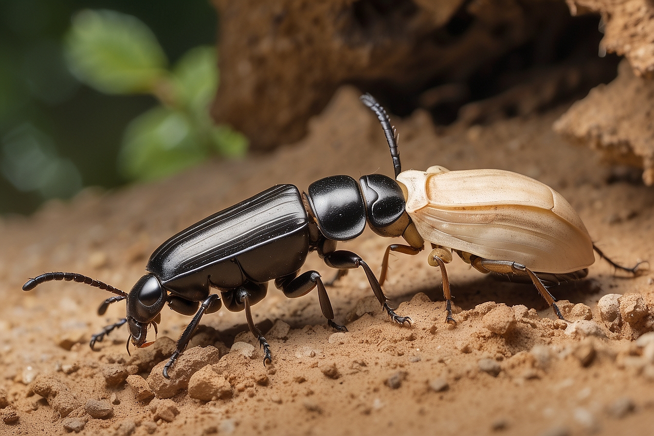
[[[203,318],[170,382],[162,362],[189,317],[164,309],[156,344],[130,357],[125,328],[95,351],[88,346],[92,333],[125,314],[121,302],[97,316],[108,293],[70,282],[22,292],[28,277],[48,271],[129,290],[173,233],[269,186],[392,175],[381,127],[357,97],[341,88],[305,139],[273,154],[114,192],[86,190],[29,218],[2,220],[0,434],[651,434],[654,273],[628,278],[601,260],[584,280],[551,288],[569,323],[556,320],[533,286],[455,259],[448,272],[462,311],[456,326],[445,324],[441,276],[424,252],[395,256],[384,286],[411,327],[388,320],[360,270],[328,289],[349,333],[326,326],[317,294],[286,299],[271,285],[253,307],[270,329],[271,365],[242,333],[243,312],[223,308]],[[404,169],[498,168],[537,178],[568,199],[613,260],[654,261],[654,190],[553,133],[565,109],[488,126],[434,127],[421,111],[393,121]],[[379,274],[389,241],[367,229],[340,246]],[[306,269],[334,274],[316,254]]]

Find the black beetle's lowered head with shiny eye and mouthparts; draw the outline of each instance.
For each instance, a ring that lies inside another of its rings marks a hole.
[[[160,312],[167,299],[167,293],[159,279],[153,274],[146,274],[129,291],[127,299],[127,322],[131,343],[143,348],[146,343],[148,327],[159,322]]]

